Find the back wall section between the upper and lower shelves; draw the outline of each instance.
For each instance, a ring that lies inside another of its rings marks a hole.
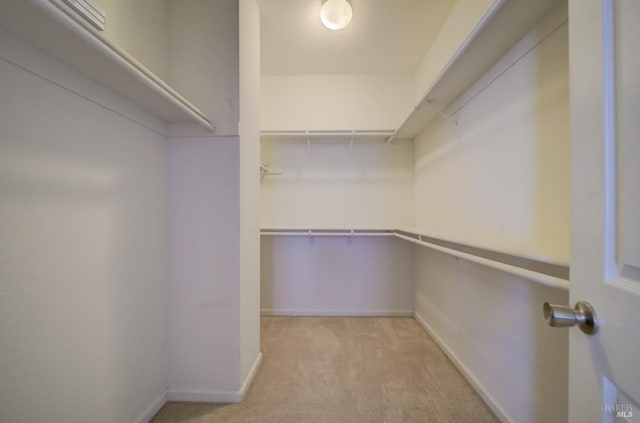
[[[261,224],[284,228],[395,228],[413,222],[413,147],[383,141],[263,141],[281,175],[262,181]]]

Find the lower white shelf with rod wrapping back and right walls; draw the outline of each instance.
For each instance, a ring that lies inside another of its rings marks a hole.
[[[334,229],[334,228],[262,228],[262,236],[296,236],[296,237],[352,237],[352,236],[395,236],[411,243],[428,247],[432,250],[452,255],[463,260],[501,270],[542,285],[569,290],[569,266],[550,260],[515,255],[483,247],[462,244],[433,238],[423,234],[416,228],[395,229]]]

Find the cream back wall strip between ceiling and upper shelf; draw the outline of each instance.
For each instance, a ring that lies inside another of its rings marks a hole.
[[[263,76],[260,129],[393,130],[412,96],[412,75]]]

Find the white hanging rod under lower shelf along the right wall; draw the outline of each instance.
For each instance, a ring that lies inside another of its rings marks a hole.
[[[494,269],[502,270],[503,272],[511,273],[512,275],[520,276],[525,279],[529,279],[543,285],[551,286],[553,288],[559,288],[564,291],[569,290],[569,281],[565,279],[556,278],[554,276],[549,276],[543,273],[535,272],[533,270],[523,269],[521,267],[512,266],[506,263],[501,263],[499,261],[486,259],[473,254],[463,253],[461,251],[454,250],[452,248],[442,247],[440,245],[432,244],[430,242],[426,242],[420,239],[412,238],[410,236],[402,235],[398,232],[395,233],[395,236],[400,239],[404,239],[405,241],[409,241],[414,244],[421,245],[423,247],[429,247],[433,250],[440,251],[442,253],[449,254],[454,257],[459,257],[461,259],[482,264],[487,267],[492,267]]]

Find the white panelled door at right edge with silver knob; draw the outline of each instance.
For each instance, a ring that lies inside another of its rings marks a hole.
[[[640,422],[640,0],[569,0],[571,422]]]

